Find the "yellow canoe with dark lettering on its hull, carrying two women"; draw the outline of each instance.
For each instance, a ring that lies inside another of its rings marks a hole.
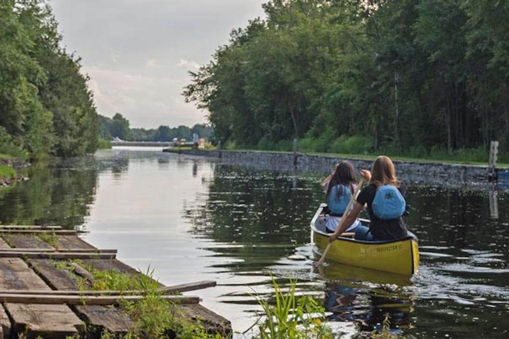
[[[329,236],[325,231],[326,208],[326,204],[321,204],[311,221],[312,242],[321,253],[329,242]],[[362,220],[362,223],[366,224],[369,221]],[[353,266],[412,275],[418,270],[419,249],[417,241],[412,237],[375,242],[339,237],[332,242],[327,259]]]

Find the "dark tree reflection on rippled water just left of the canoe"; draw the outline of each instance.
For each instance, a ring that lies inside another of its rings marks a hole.
[[[241,258],[243,266],[255,260],[258,268],[271,265],[297,244],[309,242],[309,220],[316,207],[309,201],[319,198],[314,182],[297,183],[300,189],[293,189],[287,174],[218,165],[207,183],[208,194],[185,206],[191,232],[234,243],[211,250]]]

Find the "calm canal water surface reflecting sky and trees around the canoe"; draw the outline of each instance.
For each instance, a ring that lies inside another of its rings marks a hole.
[[[253,294],[270,298],[273,276],[319,299],[337,333],[371,331],[388,314],[394,331],[415,337],[508,336],[509,194],[407,182],[418,275],[334,263],[318,270],[309,221],[324,200],[320,177],[255,167],[155,148],[100,150],[34,165],[30,180],[0,191],[0,222],[88,231],[84,239],[150,266],[164,284],[216,280],[188,294],[237,332],[258,318]]]

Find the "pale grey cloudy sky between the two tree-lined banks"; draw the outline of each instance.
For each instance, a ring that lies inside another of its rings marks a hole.
[[[64,45],[82,57],[98,112],[132,127],[194,125],[206,112],[180,95],[232,28],[266,0],[52,0]]]

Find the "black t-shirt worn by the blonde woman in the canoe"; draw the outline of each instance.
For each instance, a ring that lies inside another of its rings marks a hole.
[[[360,191],[357,196],[357,202],[364,206],[367,203],[367,212],[370,214],[370,229],[371,234],[379,240],[392,240],[404,238],[408,235],[407,226],[402,218],[393,220],[382,220],[375,216],[371,205],[375,200],[375,194],[377,193],[377,185],[370,183],[367,187]],[[406,186],[404,183],[398,188],[400,193],[405,196]]]

